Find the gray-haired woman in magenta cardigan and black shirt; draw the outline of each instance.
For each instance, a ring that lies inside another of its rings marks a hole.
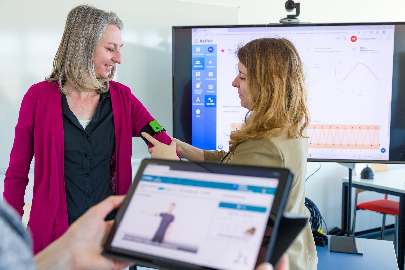
[[[72,9],[51,74],[23,98],[3,195],[24,213],[35,156],[28,223],[35,254],[93,205],[127,193],[133,136],[146,131],[162,143],[171,142],[161,126],[160,132],[151,131],[150,123],[156,121],[130,89],[112,81],[122,61],[122,28],[113,12],[88,5]]]

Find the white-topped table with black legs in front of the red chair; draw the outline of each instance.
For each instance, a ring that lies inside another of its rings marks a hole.
[[[398,217],[398,266],[404,270],[405,263],[405,169],[377,172],[373,180],[361,179],[360,175],[353,176],[352,187],[364,190],[386,193],[399,197]],[[347,227],[347,193],[348,177],[342,183],[342,232]],[[366,251],[365,251],[366,255]]]

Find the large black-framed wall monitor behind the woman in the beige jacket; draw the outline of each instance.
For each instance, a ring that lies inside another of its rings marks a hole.
[[[235,50],[287,38],[306,71],[308,160],[405,163],[405,23],[173,27],[173,132],[228,150],[247,110],[231,83]]]

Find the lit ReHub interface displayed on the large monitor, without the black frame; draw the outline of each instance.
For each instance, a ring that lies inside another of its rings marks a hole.
[[[225,150],[247,109],[237,89],[238,46],[286,38],[306,72],[309,159],[388,160],[395,25],[191,29],[192,144]],[[204,134],[204,136],[201,136]]]

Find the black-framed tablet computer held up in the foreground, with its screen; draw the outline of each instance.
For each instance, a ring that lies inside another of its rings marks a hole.
[[[282,168],[145,159],[103,254],[156,269],[274,265],[291,181]]]

